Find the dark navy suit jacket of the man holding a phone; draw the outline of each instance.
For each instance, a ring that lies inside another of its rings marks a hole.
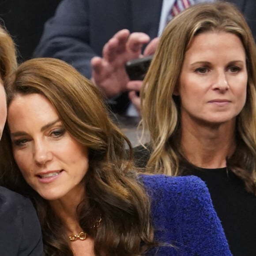
[[[256,36],[256,1],[230,0],[244,13]],[[90,60],[102,55],[102,48],[121,30],[144,32],[151,39],[158,34],[162,0],[63,0],[55,16],[45,23],[35,57],[62,59],[90,78]],[[124,95],[123,95],[124,96]],[[117,100],[117,112],[128,105]]]

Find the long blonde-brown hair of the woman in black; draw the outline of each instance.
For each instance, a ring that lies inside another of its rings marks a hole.
[[[181,175],[186,159],[180,138],[180,101],[173,95],[184,55],[193,38],[204,32],[226,32],[240,38],[246,54],[248,84],[246,103],[236,122],[237,148],[227,159],[228,167],[255,192],[256,173],[256,47],[243,15],[230,3],[197,4],[177,15],[165,28],[144,79],[142,124],[151,136],[147,169]]]

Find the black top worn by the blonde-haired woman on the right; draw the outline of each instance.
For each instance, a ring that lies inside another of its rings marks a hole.
[[[150,152],[134,149],[136,164],[144,167]],[[256,196],[246,192],[243,181],[226,168],[192,167],[189,174],[200,177],[209,189],[234,256],[256,256]]]

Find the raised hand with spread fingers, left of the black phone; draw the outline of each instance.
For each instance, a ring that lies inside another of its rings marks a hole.
[[[129,78],[125,64],[128,60],[138,58],[143,45],[149,41],[147,34],[130,34],[129,30],[120,30],[105,44],[102,58],[92,58],[92,80],[102,88],[106,97],[127,90]]]

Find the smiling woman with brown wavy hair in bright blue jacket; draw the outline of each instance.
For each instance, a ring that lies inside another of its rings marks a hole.
[[[138,175],[98,87],[69,64],[28,60],[6,86],[0,166],[35,201],[46,256],[231,255],[205,184]]]

